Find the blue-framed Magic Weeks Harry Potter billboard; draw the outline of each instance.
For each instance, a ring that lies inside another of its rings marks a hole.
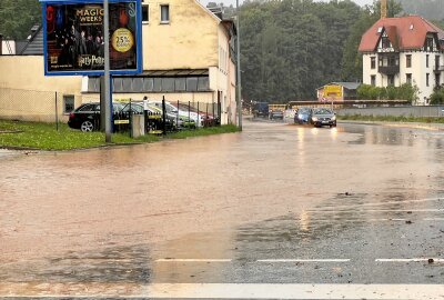
[[[102,0],[42,0],[46,76],[100,76],[104,70]],[[110,0],[111,74],[142,71],[141,2]]]

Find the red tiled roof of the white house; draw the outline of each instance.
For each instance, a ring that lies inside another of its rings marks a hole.
[[[383,31],[387,32],[393,47],[398,50],[414,50],[424,47],[427,33],[444,39],[444,31],[418,16],[385,18],[379,20],[362,36],[360,52],[374,52]]]

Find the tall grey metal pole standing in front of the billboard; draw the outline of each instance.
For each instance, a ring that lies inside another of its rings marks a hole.
[[[110,77],[110,11],[108,0],[103,0],[103,39],[104,39],[104,136],[111,142],[111,77]]]

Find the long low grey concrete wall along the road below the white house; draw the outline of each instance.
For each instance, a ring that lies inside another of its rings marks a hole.
[[[377,117],[442,117],[443,107],[396,107],[396,108],[365,108],[365,109],[339,109],[339,116],[377,116]]]

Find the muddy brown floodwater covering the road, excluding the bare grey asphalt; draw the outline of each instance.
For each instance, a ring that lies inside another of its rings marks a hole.
[[[275,249],[261,242],[330,241],[385,209],[443,217],[442,202],[408,202],[444,194],[443,150],[440,131],[245,122],[242,133],[2,156],[0,282],[169,282],[181,272],[153,260],[268,258]]]

